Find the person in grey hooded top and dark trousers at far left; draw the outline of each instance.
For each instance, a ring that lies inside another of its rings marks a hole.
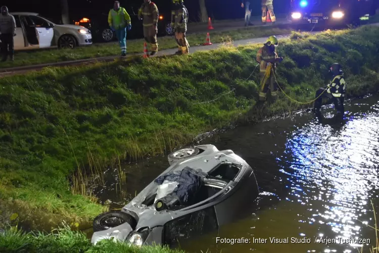
[[[1,7],[2,15],[0,16],[0,40],[1,50],[3,53],[2,61],[5,62],[9,57],[14,61],[14,36],[16,36],[16,20],[8,12],[8,7]]]

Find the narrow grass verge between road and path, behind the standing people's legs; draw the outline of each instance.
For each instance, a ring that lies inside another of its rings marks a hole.
[[[220,43],[227,39],[237,40],[254,37],[268,36],[271,34],[288,34],[291,29],[286,25],[275,25],[267,27],[248,27],[238,30],[210,32],[212,43]],[[207,33],[188,34],[187,39],[190,46],[203,45],[206,40]],[[128,53],[143,53],[143,39],[133,39],[127,41]],[[175,38],[173,36],[158,37],[159,49],[177,48]],[[0,62],[0,68],[29,66],[43,63],[53,63],[61,61],[72,61],[79,59],[88,59],[104,56],[120,55],[120,47],[116,43],[109,44],[93,44],[89,47],[80,47],[74,50],[33,50],[16,52],[14,62]]]

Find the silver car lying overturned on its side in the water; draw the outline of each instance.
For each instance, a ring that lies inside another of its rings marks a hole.
[[[256,202],[253,170],[231,150],[201,145],[175,151],[168,160],[167,170],[120,211],[93,220],[92,243],[113,239],[175,247],[242,218]]]

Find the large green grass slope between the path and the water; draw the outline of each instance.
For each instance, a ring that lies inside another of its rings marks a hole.
[[[277,48],[285,57],[277,69],[281,87],[310,101],[324,86],[327,67],[340,62],[349,96],[377,91],[378,32],[294,33]],[[255,120],[304,107],[280,94],[262,110],[254,108],[259,81],[258,71],[251,72],[260,46],[0,79],[3,222],[18,213],[34,227],[49,229],[62,219],[82,226],[104,210],[85,197],[85,175],[119,159],[165,153],[242,116]],[[84,169],[70,187],[67,177]]]

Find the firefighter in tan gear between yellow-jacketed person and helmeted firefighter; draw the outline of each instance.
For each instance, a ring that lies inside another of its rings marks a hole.
[[[146,42],[151,45],[150,55],[155,55],[158,52],[158,7],[151,0],[144,0],[144,4],[138,10],[138,18],[144,20],[144,37]]]

